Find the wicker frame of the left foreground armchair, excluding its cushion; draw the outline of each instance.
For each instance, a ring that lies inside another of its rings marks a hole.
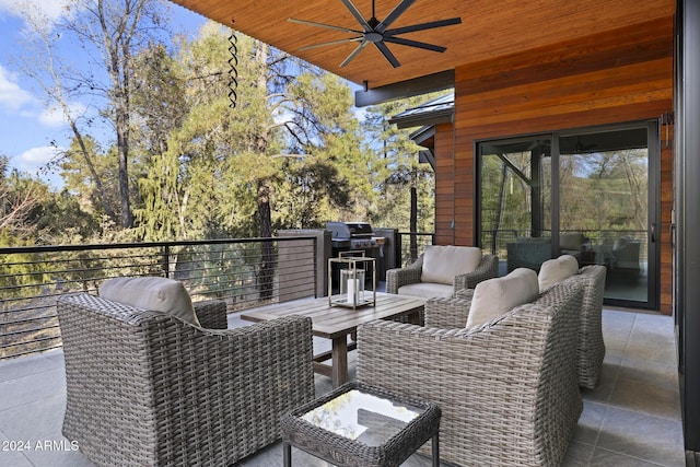
[[[230,465],[278,440],[280,417],[314,397],[308,318],[225,330],[222,302],[195,304],[196,327],[91,294],[57,308],[62,433],[97,465]]]

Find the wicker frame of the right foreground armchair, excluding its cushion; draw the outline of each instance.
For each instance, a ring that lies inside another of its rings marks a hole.
[[[471,330],[464,322],[360,326],[358,381],[436,402],[443,460],[559,465],[583,409],[575,369],[582,293],[580,283],[561,282]]]

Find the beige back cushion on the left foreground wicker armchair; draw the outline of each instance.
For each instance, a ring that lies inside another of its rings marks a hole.
[[[114,278],[100,285],[100,296],[137,308],[167,313],[199,326],[192,301],[182,282],[156,277]]]

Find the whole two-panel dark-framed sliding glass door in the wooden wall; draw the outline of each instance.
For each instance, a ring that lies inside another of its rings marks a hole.
[[[477,154],[479,237],[502,273],[570,254],[606,267],[608,304],[656,306],[655,125],[483,141]]]

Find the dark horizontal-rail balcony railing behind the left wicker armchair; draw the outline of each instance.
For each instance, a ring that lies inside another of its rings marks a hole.
[[[0,360],[61,346],[56,301],[119,276],[182,281],[229,312],[314,296],[312,236],[0,248]]]

